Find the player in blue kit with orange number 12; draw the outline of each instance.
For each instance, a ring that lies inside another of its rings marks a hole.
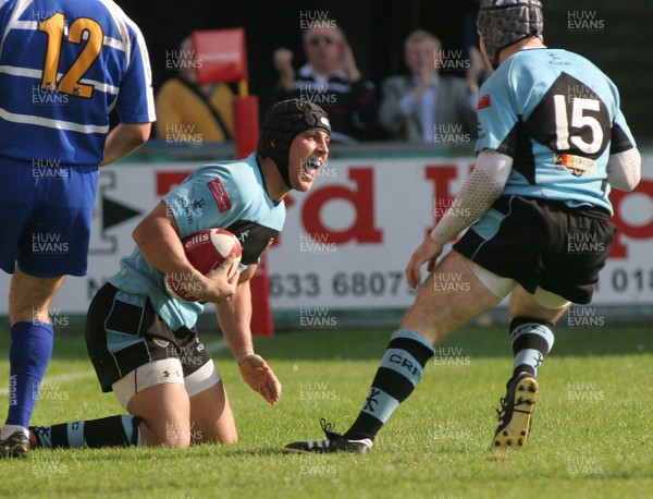
[[[0,0],[0,268],[13,275],[10,397],[0,458],[25,457],[50,361],[50,303],[85,276],[98,166],[155,121],[147,49],[111,1]],[[109,112],[120,124],[109,131]]]

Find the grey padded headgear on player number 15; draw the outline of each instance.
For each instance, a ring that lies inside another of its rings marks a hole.
[[[498,66],[498,52],[529,36],[542,39],[544,16],[539,0],[481,0],[477,29],[493,69]]]

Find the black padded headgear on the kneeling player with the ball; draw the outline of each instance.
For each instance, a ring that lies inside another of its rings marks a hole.
[[[288,187],[288,156],[293,139],[307,130],[320,129],[331,136],[326,113],[309,100],[288,99],[276,102],[266,114],[257,153],[272,159]]]

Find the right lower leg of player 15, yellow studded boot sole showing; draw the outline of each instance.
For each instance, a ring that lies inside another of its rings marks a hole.
[[[569,302],[542,289],[535,295],[521,285],[513,290],[508,314],[514,372],[497,411],[498,426],[492,447],[519,448],[526,443],[540,392],[538,368],[553,345],[553,326],[568,307]]]

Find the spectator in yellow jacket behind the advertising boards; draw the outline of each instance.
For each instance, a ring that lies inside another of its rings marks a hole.
[[[182,41],[172,66],[178,76],[168,80],[155,106],[158,138],[178,144],[231,141],[234,134],[234,93],[226,83],[198,85],[192,39]]]

